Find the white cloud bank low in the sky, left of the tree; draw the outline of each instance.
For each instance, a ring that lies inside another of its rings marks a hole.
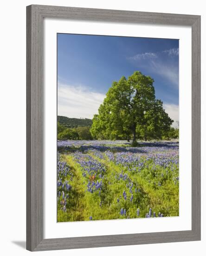
[[[104,97],[105,94],[90,92],[82,86],[58,82],[58,115],[92,119]]]

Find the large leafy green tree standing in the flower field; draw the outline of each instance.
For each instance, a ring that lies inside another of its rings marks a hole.
[[[96,139],[127,139],[137,135],[147,141],[161,138],[169,130],[173,120],[162,107],[162,101],[155,99],[154,80],[139,71],[112,83],[103,104],[94,115],[90,128]]]

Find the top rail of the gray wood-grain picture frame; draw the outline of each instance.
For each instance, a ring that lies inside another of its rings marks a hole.
[[[197,15],[34,5],[46,18],[192,26]]]

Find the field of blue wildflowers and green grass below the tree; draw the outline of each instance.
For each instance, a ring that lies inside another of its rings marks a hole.
[[[179,216],[178,142],[58,141],[58,222]]]

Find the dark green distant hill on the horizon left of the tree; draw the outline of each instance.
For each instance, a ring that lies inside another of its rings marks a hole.
[[[64,125],[67,128],[76,128],[76,127],[84,127],[84,126],[91,126],[92,120],[88,118],[69,118],[66,116],[58,115],[57,121]]]

